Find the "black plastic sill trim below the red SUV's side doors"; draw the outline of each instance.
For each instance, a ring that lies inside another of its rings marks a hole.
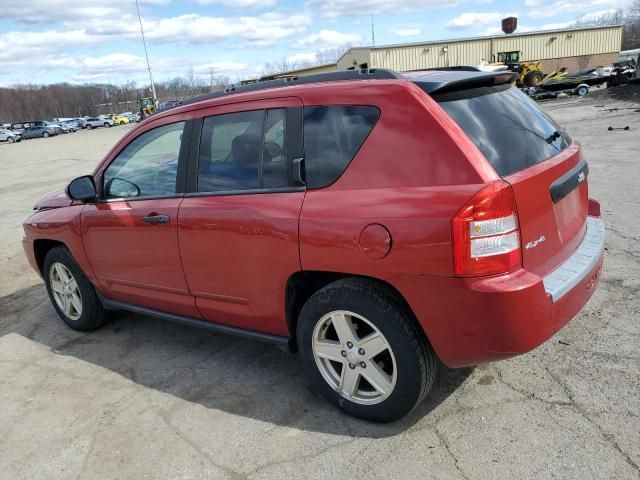
[[[272,335],[270,333],[256,332],[253,330],[244,330],[242,328],[230,327],[229,325],[222,325],[219,323],[209,322],[207,320],[200,320],[197,318],[183,317],[181,315],[175,315],[173,313],[161,312],[152,308],[140,307],[138,305],[131,305],[129,303],[117,302],[109,300],[108,298],[100,297],[102,305],[107,310],[125,310],[127,312],[135,313],[138,315],[147,315],[150,317],[158,318],[160,320],[167,320],[169,322],[180,323],[182,325],[188,325],[190,327],[202,328],[204,330],[210,330],[213,332],[225,333],[228,335],[235,335],[249,340],[258,340],[260,342],[266,342],[274,344],[283,350],[291,351],[291,337],[285,337],[281,335]]]

